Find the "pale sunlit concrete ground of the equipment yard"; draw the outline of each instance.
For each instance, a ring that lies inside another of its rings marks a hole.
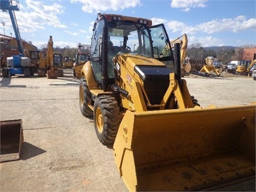
[[[128,191],[113,149],[101,145],[93,119],[78,106],[79,80],[64,77],[0,78],[0,120],[22,119],[21,159],[0,164],[1,191]],[[223,73],[184,77],[202,107],[244,105],[256,99],[256,81]],[[241,188],[247,190],[255,180]]]

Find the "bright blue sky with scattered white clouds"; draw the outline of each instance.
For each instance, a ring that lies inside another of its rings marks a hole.
[[[17,2],[12,1],[12,2]],[[164,23],[170,40],[187,34],[188,45],[256,46],[255,0],[19,0],[14,11],[20,36],[41,49],[91,44],[97,14],[121,14]],[[0,11],[0,34],[14,37],[10,16]],[[12,34],[12,35],[11,35]]]

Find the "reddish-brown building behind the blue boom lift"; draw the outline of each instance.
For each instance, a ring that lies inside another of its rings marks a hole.
[[[37,50],[36,46],[24,41],[23,39],[21,40],[21,43],[23,49],[26,49],[27,51]],[[19,54],[20,52],[18,49],[16,38],[0,34],[0,55],[3,58],[3,60],[6,62],[7,57],[12,57],[13,55]]]

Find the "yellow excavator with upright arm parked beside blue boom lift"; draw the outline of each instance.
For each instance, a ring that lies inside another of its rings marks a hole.
[[[40,57],[37,72],[38,77],[45,77],[46,73],[47,78],[50,79],[63,77],[62,55],[61,53],[53,52],[52,36],[50,36],[47,44],[46,59],[43,58],[43,54]]]

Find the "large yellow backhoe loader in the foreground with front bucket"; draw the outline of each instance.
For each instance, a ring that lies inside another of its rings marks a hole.
[[[98,13],[79,107],[129,191],[213,190],[255,179],[255,103],[202,108],[163,24]],[[133,51],[131,51],[133,47]],[[200,90],[199,90],[200,91]]]

